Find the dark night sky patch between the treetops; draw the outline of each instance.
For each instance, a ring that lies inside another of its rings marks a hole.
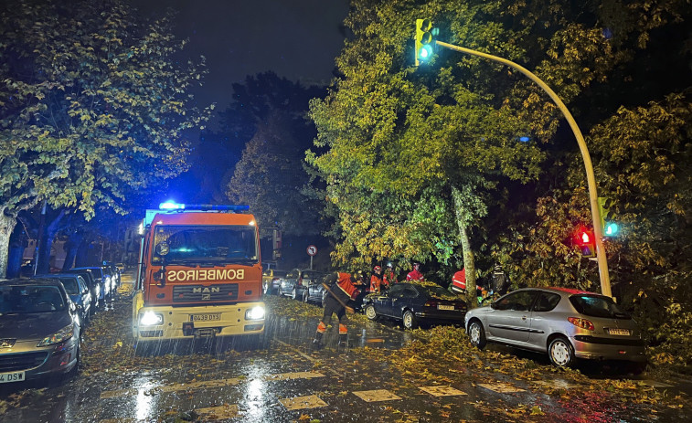
[[[144,15],[173,7],[176,35],[186,51],[207,58],[205,86],[195,91],[200,106],[224,110],[231,84],[266,70],[303,85],[332,78],[344,44],[340,30],[348,0],[130,0]],[[212,128],[213,123],[212,123]]]

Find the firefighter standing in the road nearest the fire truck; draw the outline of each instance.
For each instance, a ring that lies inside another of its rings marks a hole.
[[[325,278],[323,282],[327,297],[325,301],[325,313],[322,320],[317,325],[317,332],[314,333],[313,346],[315,349],[322,347],[322,336],[326,332],[327,326],[332,322],[332,314],[336,313],[339,319],[339,346],[346,346],[348,341],[348,329],[346,329],[346,312],[354,312],[353,308],[348,307],[348,301],[355,300],[360,293],[359,288],[363,285],[363,274],[335,272]]]

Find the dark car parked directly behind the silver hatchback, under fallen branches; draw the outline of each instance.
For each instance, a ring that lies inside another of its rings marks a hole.
[[[363,300],[368,319],[385,316],[402,321],[407,329],[420,323],[463,324],[466,299],[432,282],[401,282],[388,291],[368,294]]]

